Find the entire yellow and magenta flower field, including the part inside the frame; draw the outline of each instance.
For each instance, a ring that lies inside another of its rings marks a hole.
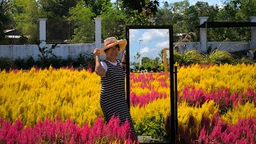
[[[178,68],[178,142],[255,143],[256,65]],[[138,135],[170,135],[170,82],[164,73],[130,74],[130,113]],[[0,142],[133,143],[129,124],[106,124],[100,77],[90,70],[0,72]]]

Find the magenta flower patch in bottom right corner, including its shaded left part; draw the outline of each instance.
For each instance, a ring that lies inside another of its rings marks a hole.
[[[166,122],[167,134],[171,134],[170,116]],[[239,119],[238,123],[227,124],[218,113],[214,118],[202,118],[197,130],[195,118],[190,116],[185,129],[178,127],[177,139],[179,143],[255,143],[256,142],[256,118]]]

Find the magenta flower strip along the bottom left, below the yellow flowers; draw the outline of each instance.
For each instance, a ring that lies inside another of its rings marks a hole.
[[[59,118],[38,122],[33,128],[24,126],[17,120],[10,122],[0,119],[0,143],[134,143],[128,121],[120,125],[119,118],[111,118],[104,124],[102,118],[94,122],[94,126],[84,125],[80,128],[67,119],[62,122]],[[136,141],[137,142],[137,141]]]

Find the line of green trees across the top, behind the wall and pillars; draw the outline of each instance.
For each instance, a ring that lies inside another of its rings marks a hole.
[[[221,6],[208,2],[190,5],[158,0],[2,0],[0,2],[0,43],[4,30],[21,31],[24,42],[38,41],[38,18],[47,18],[47,38],[61,38],[67,43],[94,42],[94,18],[102,18],[102,38],[125,37],[126,25],[172,25],[175,34],[194,32],[192,42],[198,41],[198,17],[209,21],[248,21],[256,15],[254,0],[224,0]],[[209,29],[209,41],[249,41],[250,28]],[[174,42],[179,38],[174,37]]]

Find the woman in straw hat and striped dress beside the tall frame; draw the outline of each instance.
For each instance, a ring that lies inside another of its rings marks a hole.
[[[126,40],[117,40],[115,37],[106,38],[104,47],[94,50],[95,72],[101,76],[100,104],[106,122],[109,122],[113,115],[119,117],[121,124],[127,119],[130,122],[132,135],[135,136],[126,102],[126,52],[122,56],[122,62],[117,60],[118,54],[125,49],[126,44]],[[102,62],[99,59],[100,54],[106,54],[106,59]]]

